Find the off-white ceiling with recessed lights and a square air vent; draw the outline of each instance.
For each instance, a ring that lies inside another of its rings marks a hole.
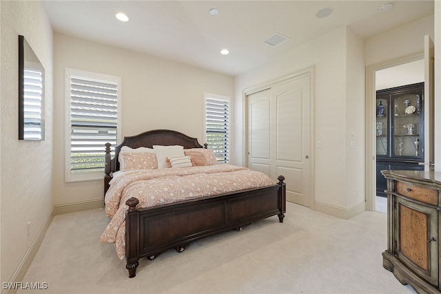
[[[393,9],[380,11],[383,3]],[[369,38],[433,14],[431,1],[44,1],[55,32],[235,76],[348,25]],[[217,8],[219,14],[209,14]],[[322,8],[333,8],[325,19]],[[125,12],[127,23],[116,20]],[[273,47],[273,34],[289,41]],[[227,48],[224,56],[220,50]]]

